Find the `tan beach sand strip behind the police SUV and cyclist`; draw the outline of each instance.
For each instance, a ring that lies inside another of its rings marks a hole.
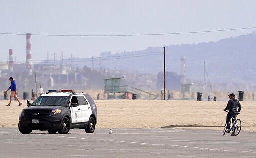
[[[226,101],[193,100],[95,100],[98,123],[96,128],[160,128],[168,126],[222,130]],[[23,106],[12,101],[0,101],[0,127],[17,127]],[[237,118],[242,131],[256,132],[256,101],[241,101],[242,110]]]

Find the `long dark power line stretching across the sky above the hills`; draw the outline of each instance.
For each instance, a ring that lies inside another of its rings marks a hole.
[[[151,35],[175,35],[175,34],[194,34],[194,33],[208,33],[208,32],[221,32],[221,31],[233,31],[233,30],[246,30],[255,29],[256,27],[247,28],[234,28],[234,29],[219,29],[219,30],[207,30],[207,31],[194,31],[194,32],[174,32],[174,33],[159,33],[159,34],[110,34],[110,35],[68,35],[68,34],[31,34],[33,36],[63,36],[63,37],[118,37],[118,36],[151,36]],[[26,35],[26,33],[0,33],[3,35]]]

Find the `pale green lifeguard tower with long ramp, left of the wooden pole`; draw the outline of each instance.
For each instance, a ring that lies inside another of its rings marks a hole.
[[[129,86],[120,85],[120,80],[124,77],[108,78],[105,81],[105,93],[107,94],[107,99],[115,99],[116,93],[123,93],[122,99],[156,99],[156,95],[144,90]],[[133,96],[133,97],[132,97]],[[134,97],[135,96],[135,97]]]

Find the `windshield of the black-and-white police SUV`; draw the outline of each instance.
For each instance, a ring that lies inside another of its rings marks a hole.
[[[31,106],[67,106],[69,96],[39,96]]]

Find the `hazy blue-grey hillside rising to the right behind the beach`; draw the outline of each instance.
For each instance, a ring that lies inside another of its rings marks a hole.
[[[169,45],[165,47],[166,71],[181,73],[182,56],[186,57],[186,76],[192,80],[212,82],[250,81],[256,79],[256,32],[199,44]],[[102,57],[103,56],[103,57]],[[143,51],[102,53],[94,58],[94,67],[157,74],[163,71],[163,48],[150,47]],[[100,63],[99,63],[100,62]],[[87,65],[91,67],[92,65]]]

